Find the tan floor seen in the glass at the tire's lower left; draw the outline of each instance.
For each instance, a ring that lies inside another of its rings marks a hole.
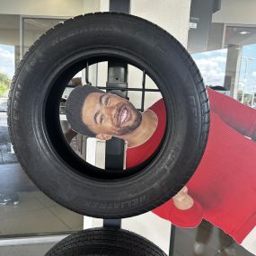
[[[0,206],[0,235],[83,229],[83,216],[60,207],[40,191],[20,192],[19,199],[16,206]]]

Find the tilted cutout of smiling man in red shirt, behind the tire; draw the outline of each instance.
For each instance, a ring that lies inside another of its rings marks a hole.
[[[181,227],[205,218],[256,254],[256,110],[207,92],[211,125],[199,167],[186,187],[153,212]],[[166,122],[163,100],[140,113],[127,100],[89,85],[70,93],[66,118],[80,134],[126,140],[127,168],[154,153]]]

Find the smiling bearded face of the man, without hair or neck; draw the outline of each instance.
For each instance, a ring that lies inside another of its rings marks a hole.
[[[141,123],[141,113],[128,102],[111,93],[91,93],[82,110],[84,123],[96,135],[123,136]]]

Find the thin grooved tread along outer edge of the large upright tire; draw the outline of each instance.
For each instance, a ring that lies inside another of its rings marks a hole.
[[[13,75],[13,80],[12,80],[12,84],[10,86],[10,92],[9,92],[9,99],[8,99],[8,108],[7,108],[7,123],[8,123],[8,129],[9,129],[9,134],[10,134],[10,138],[12,141],[12,144],[14,144],[14,139],[13,139],[13,129],[12,129],[12,122],[11,122],[11,109],[12,109],[12,99],[14,97],[14,93],[15,93],[15,84],[17,82],[17,78],[20,75],[21,71],[22,71],[22,67],[24,66],[24,64],[26,63],[26,61],[28,60],[29,57],[31,57],[31,55],[33,54],[34,50],[37,49],[37,47],[40,44],[43,44],[44,41],[53,33],[55,33],[56,30],[58,29],[64,29],[66,24],[69,23],[74,23],[74,22],[84,22],[84,17],[89,17],[89,16],[97,16],[97,15],[110,15],[111,17],[117,17],[120,18],[121,16],[125,16],[125,17],[131,17],[132,15],[130,14],[126,14],[126,13],[88,13],[85,15],[79,15],[76,16],[72,19],[66,20],[65,22],[61,22],[58,23],[54,28],[50,29],[49,31],[45,32],[44,34],[42,34],[40,36],[40,38],[38,40],[36,40],[34,42],[34,44],[31,46],[31,48],[24,54],[24,57],[22,58],[22,60],[20,61],[18,67],[16,68],[15,74]],[[156,24],[152,23],[152,22],[148,22],[146,20],[142,20],[141,18],[138,18],[136,16],[132,16],[131,18],[134,21],[139,20],[140,22],[145,22],[146,24],[153,24],[155,28],[164,31],[162,28],[160,28],[159,26],[157,26]],[[200,75],[199,72],[199,68],[196,66],[194,60],[192,59],[192,57],[190,57],[190,54],[188,53],[188,51],[181,45],[181,43],[176,40],[172,35],[170,35],[167,31],[164,31],[166,33],[166,35],[168,35],[168,37],[172,37],[172,42],[175,46],[175,49],[177,50],[178,55],[183,59],[183,61],[186,63],[186,66],[189,68],[191,74],[193,74],[193,80],[196,84],[196,88],[197,91],[199,93],[199,102],[200,102],[200,110],[201,110],[201,115],[202,115],[202,123],[201,123],[201,133],[200,133],[200,138],[199,138],[199,146],[198,146],[198,151],[195,154],[194,157],[194,164],[191,166],[190,170],[187,172],[187,174],[185,175],[184,178],[184,182],[186,183],[187,181],[189,181],[190,176],[191,176],[191,172],[193,172],[193,170],[196,168],[196,166],[198,166],[199,161],[204,153],[205,147],[207,145],[207,137],[208,137],[208,129],[209,129],[209,125],[210,125],[210,113],[209,113],[209,105],[208,105],[208,99],[207,99],[207,91],[206,91],[206,87],[204,85],[203,82],[203,78]],[[26,170],[26,164],[24,163],[24,161],[22,161],[22,156],[19,153],[19,151],[17,150],[16,146],[13,145],[13,150],[14,153],[16,154],[18,161],[21,163],[22,168],[24,170]],[[27,172],[28,176],[30,177],[30,174]],[[31,177],[30,177],[31,178]],[[37,182],[33,181],[38,187],[40,187],[40,184],[37,184]],[[181,189],[181,186],[183,186],[183,182],[182,183],[177,183],[176,187],[170,191],[170,194],[173,193],[173,191],[178,192]],[[168,199],[170,199],[170,194],[165,194],[163,195],[163,198],[160,199],[158,201],[158,205],[159,202],[161,202],[161,204],[163,204],[164,202],[166,202]],[[154,207],[153,205],[150,205],[146,210],[150,210],[152,207]],[[137,212],[135,212],[134,215],[138,215],[140,214],[140,211],[138,210]],[[97,216],[97,214],[95,214],[95,216]],[[128,215],[129,216],[129,215]],[[99,216],[101,217],[101,216]],[[108,216],[108,217],[112,217],[115,218],[116,216],[113,214],[113,216]]]

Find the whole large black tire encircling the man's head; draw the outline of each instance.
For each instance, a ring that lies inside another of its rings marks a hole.
[[[145,69],[166,107],[161,146],[126,172],[85,163],[59,124],[65,84],[107,57]],[[209,107],[199,69],[170,34],[132,15],[92,13],[57,24],[31,46],[13,77],[8,124],[23,169],[49,198],[82,215],[120,218],[160,206],[189,181],[207,144]]]

